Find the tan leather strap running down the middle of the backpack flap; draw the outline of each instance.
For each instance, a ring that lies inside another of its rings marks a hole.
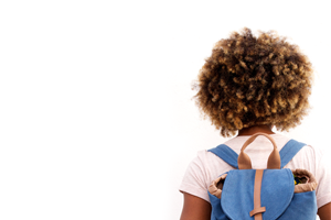
[[[254,216],[255,220],[263,220],[261,213],[266,211],[266,207],[260,207],[260,189],[261,189],[263,176],[264,176],[264,169],[255,170],[254,209],[249,212],[250,217]]]

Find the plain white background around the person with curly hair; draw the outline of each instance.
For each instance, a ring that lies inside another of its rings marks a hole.
[[[1,1],[0,219],[179,219],[188,164],[225,141],[192,80],[244,26],[311,59],[286,135],[330,156],[330,20],[327,1]]]

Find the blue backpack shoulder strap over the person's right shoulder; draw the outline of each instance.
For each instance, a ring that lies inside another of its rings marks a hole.
[[[307,144],[298,142],[296,140],[290,140],[285,144],[285,146],[279,151],[281,165],[280,168],[284,168],[293,156]]]

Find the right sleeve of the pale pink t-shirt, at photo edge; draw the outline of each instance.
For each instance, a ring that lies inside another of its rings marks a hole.
[[[325,154],[317,148],[317,205],[318,208],[331,202],[331,168],[327,164]]]

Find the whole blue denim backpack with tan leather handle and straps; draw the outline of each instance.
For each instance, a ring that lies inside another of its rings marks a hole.
[[[244,153],[258,135],[268,138],[274,145],[267,169],[252,169],[250,158]],[[284,168],[305,145],[290,140],[278,152],[271,136],[257,133],[245,142],[239,155],[224,144],[209,150],[237,168],[221,175],[209,187],[211,219],[316,219],[316,178],[306,169]]]

